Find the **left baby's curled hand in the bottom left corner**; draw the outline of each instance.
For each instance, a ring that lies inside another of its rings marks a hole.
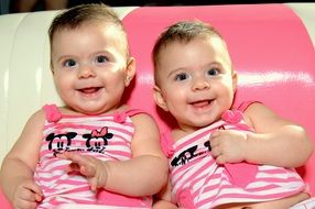
[[[19,209],[36,208],[37,202],[42,201],[43,193],[39,185],[32,179],[23,179],[13,190],[12,205]]]

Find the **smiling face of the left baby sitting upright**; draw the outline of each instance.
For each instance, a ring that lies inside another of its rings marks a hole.
[[[101,23],[55,33],[53,76],[66,105],[88,114],[118,107],[130,67],[122,37],[117,28]]]

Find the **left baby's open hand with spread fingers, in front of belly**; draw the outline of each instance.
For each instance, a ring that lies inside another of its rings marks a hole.
[[[58,157],[72,161],[68,167],[68,173],[79,172],[85,175],[93,191],[106,186],[108,177],[108,167],[106,162],[93,156],[79,155],[72,152],[58,154]]]

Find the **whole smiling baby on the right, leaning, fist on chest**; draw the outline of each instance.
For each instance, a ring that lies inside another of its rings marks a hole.
[[[155,102],[177,122],[161,139],[170,183],[154,208],[315,207],[294,170],[313,151],[306,131],[261,102],[233,107],[238,74],[213,26],[171,25],[152,59]]]

